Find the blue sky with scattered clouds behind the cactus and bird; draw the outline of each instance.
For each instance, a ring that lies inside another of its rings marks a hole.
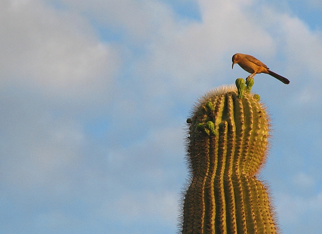
[[[261,177],[283,233],[322,229],[322,3],[3,0],[0,232],[175,233],[185,122],[248,73],[274,125]]]

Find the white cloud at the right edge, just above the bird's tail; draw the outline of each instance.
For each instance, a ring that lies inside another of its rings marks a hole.
[[[311,31],[299,18],[279,14],[272,7],[265,8],[263,16],[267,19],[265,27],[271,31],[274,40],[279,41],[279,53],[286,56],[287,73],[294,78],[305,75],[304,84],[310,82],[310,77],[314,82],[318,81],[318,74],[322,72],[319,66],[322,32]]]

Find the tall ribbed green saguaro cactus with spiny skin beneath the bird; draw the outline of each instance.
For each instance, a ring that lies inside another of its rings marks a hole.
[[[243,96],[222,87],[192,111],[182,233],[278,233],[267,186],[256,177],[268,151],[269,116],[252,94]]]

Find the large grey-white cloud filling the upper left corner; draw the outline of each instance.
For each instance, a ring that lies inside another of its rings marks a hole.
[[[81,16],[54,11],[37,0],[6,0],[0,9],[2,82],[70,96],[113,85],[120,63],[117,49],[99,42]]]

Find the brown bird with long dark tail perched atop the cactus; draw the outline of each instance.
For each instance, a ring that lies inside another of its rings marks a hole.
[[[231,68],[233,69],[233,65],[235,63],[238,63],[238,65],[243,68],[245,71],[251,73],[246,80],[249,78],[254,78],[254,76],[258,73],[266,73],[269,74],[276,79],[282,81],[284,84],[289,84],[290,81],[286,79],[285,77],[276,74],[275,72],[272,72],[264,63],[262,63],[260,60],[257,58],[254,58],[251,55],[248,54],[234,54],[232,56],[232,66]]]

